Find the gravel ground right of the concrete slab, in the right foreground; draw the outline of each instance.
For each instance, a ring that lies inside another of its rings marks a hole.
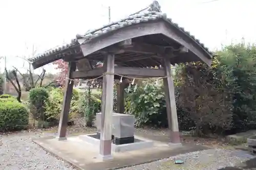
[[[230,167],[230,170],[241,169],[245,167],[245,161],[255,157],[247,154],[246,151],[227,150],[227,149],[210,149],[205,151],[198,151],[184,155],[177,155],[168,159],[145,163],[132,167],[122,168],[122,170],[178,170],[178,169],[200,169],[200,170],[216,170],[224,167]],[[175,164],[174,160],[183,160],[183,164]],[[232,168],[231,168],[232,167]],[[241,167],[241,168],[235,168]],[[254,166],[255,167],[255,166]],[[244,168],[243,168],[244,169]],[[252,169],[252,168],[246,168]],[[256,169],[256,167],[255,167]]]

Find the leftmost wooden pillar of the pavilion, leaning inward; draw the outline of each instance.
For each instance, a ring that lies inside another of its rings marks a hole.
[[[57,135],[57,138],[59,140],[67,139],[66,132],[67,132],[67,126],[68,126],[68,119],[69,119],[70,102],[71,102],[73,86],[74,86],[74,81],[70,80],[70,78],[71,78],[71,72],[75,70],[76,70],[76,63],[69,62],[69,68],[68,68],[69,79],[66,79],[65,94],[64,94],[64,99],[62,103],[60,119],[59,119],[59,127],[58,127],[58,135]]]

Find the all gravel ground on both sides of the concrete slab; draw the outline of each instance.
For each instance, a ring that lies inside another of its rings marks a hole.
[[[33,138],[43,136],[46,135],[42,132],[0,135],[0,169],[75,169],[68,163],[65,163],[48,154],[37,144],[32,142]],[[174,159],[177,158],[182,159],[184,163],[181,165],[175,164]],[[235,165],[241,165],[241,162],[252,158],[254,157],[246,154],[245,151],[231,149],[210,149],[178,155],[142,165],[125,167],[122,168],[122,170],[219,169],[226,166],[233,167]]]

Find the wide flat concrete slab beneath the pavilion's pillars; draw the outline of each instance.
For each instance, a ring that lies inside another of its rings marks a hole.
[[[154,141],[154,147],[152,148],[137,151],[113,152],[113,159],[103,160],[98,157],[98,147],[84,142],[79,136],[69,136],[67,140],[45,137],[33,141],[47,152],[71,163],[77,169],[86,170],[116,169],[152,162],[178,154],[209,149],[202,145],[184,145],[181,148],[172,149],[167,143]]]

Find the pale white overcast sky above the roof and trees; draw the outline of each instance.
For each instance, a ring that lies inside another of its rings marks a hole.
[[[137,12],[153,0],[0,0],[0,56],[6,56],[7,68],[26,71],[23,57],[32,57],[33,46],[40,54],[76,34],[99,28],[111,20]],[[231,42],[256,42],[256,1],[254,0],[158,0],[161,10],[185,28],[210,50]],[[19,56],[19,57],[16,57]],[[4,60],[0,62],[3,72]],[[53,65],[44,67],[56,73]],[[41,68],[35,69],[38,73]]]

